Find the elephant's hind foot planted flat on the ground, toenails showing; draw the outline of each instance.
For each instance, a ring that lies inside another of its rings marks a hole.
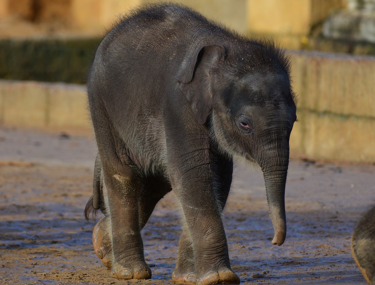
[[[137,262],[132,265],[122,266],[117,263],[112,266],[111,275],[118,279],[150,279],[151,269],[145,262]]]

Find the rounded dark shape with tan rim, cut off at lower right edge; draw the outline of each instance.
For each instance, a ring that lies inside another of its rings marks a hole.
[[[375,285],[375,206],[354,228],[351,252],[368,284]]]

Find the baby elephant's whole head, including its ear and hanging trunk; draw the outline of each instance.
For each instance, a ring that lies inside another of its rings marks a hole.
[[[257,162],[263,171],[275,230],[284,243],[289,137],[296,121],[290,61],[272,43],[206,45],[187,56],[176,79],[200,124],[223,152]]]

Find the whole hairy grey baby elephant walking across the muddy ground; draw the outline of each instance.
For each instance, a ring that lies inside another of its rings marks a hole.
[[[94,246],[107,251],[100,256],[110,252],[114,277],[151,278],[140,231],[173,190],[183,222],[173,280],[238,284],[220,216],[234,155],[261,166],[272,243],[286,236],[296,120],[289,62],[272,44],[244,39],[185,7],[147,9],[105,37],[87,83],[99,150],[87,212],[95,206],[105,213]]]

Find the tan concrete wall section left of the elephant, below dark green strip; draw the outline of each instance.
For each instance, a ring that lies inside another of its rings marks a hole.
[[[0,80],[0,123],[23,128],[91,129],[86,87]]]

